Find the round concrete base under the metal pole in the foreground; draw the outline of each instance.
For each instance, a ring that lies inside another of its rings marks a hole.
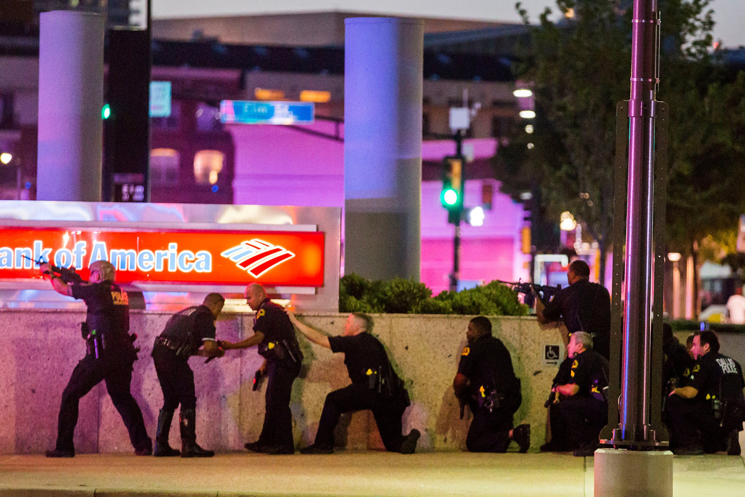
[[[597,449],[595,497],[673,497],[673,453]]]

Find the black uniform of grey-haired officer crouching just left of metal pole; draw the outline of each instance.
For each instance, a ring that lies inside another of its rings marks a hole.
[[[594,349],[586,349],[562,363],[554,382],[576,384],[580,390],[572,396],[560,396],[559,402],[551,405],[552,442],[565,443],[563,448],[568,450],[597,445],[600,430],[608,422],[603,391],[608,385],[606,358]]]

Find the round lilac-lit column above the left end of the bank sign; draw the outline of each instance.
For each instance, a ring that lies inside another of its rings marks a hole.
[[[101,200],[104,17],[40,14],[37,200]]]

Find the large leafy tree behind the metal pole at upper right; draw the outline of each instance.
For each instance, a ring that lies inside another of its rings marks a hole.
[[[717,79],[721,72],[714,70],[716,61],[708,53],[713,27],[711,10],[706,10],[708,3],[659,2],[663,20],[659,99],[668,101],[671,107],[668,199],[673,200],[668,204],[668,226],[675,239],[688,236],[683,232],[701,238],[699,231],[676,228],[682,211],[675,211],[679,208],[675,202],[687,193],[685,186],[694,181],[691,157],[694,151],[700,154],[697,145],[686,142],[689,128],[697,125],[691,117],[707,120],[706,127],[696,130],[703,143],[712,140],[712,130],[723,124],[726,114],[722,107],[722,118],[718,117],[718,101],[713,109],[698,109],[699,97],[711,92],[711,98],[726,94],[729,104],[738,102],[738,91]],[[519,3],[516,7],[527,24],[527,12]],[[533,84],[533,133],[525,133],[525,123],[513,127],[510,144],[500,148],[493,165],[503,191],[517,198],[530,189],[531,182],[537,183],[545,215],[558,220],[559,213],[568,210],[586,225],[600,249],[600,282],[604,282],[606,253],[612,244],[615,108],[618,101],[629,98],[632,6],[628,0],[557,0],[557,7],[565,19],[551,22],[551,10],[546,9],[539,25],[530,27],[530,42],[519,49],[515,65],[516,76]],[[719,134],[710,145],[732,148],[729,144],[737,141],[734,129]],[[711,153],[711,146],[707,150]],[[706,171],[712,177],[725,165],[720,156],[716,160]],[[708,186],[711,184],[708,182]],[[706,197],[706,186],[702,185],[701,190],[697,193]],[[722,197],[723,203],[738,204],[736,196]],[[697,209],[697,214],[723,212],[722,206],[711,206],[705,198],[685,198],[686,208]],[[711,226],[711,221],[704,219],[696,224],[704,230],[707,225]]]

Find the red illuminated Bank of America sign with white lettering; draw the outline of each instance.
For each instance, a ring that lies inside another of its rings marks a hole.
[[[117,282],[323,286],[323,232],[0,227],[0,279],[38,279],[34,260],[83,279],[107,260]]]

